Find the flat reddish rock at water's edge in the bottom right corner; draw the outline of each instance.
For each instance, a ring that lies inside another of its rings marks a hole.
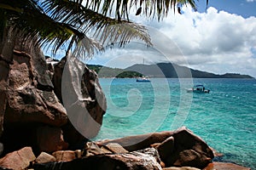
[[[215,162],[209,163],[209,165],[204,168],[204,170],[250,170],[248,167],[241,167],[234,163],[227,163],[227,162]]]

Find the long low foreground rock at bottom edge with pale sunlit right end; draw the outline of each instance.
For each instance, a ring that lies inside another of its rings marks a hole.
[[[55,162],[48,164],[35,164],[35,170],[67,170],[67,169],[94,169],[94,170],[160,170],[160,164],[149,156],[140,152],[113,155],[96,155],[69,162]]]

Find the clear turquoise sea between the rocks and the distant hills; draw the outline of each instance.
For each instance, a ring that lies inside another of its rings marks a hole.
[[[100,79],[108,101],[96,139],[174,130],[186,126],[224,157],[256,169],[256,80]],[[203,84],[210,94],[185,88]]]

